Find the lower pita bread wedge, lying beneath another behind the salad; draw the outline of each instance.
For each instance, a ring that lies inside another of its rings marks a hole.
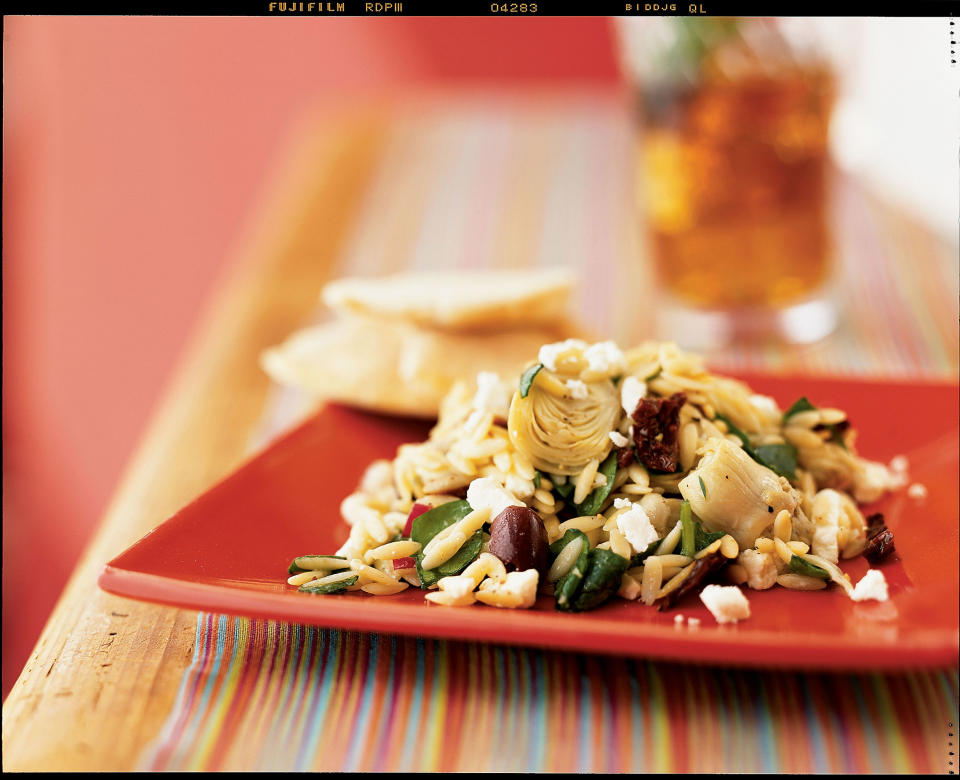
[[[260,362],[276,382],[315,398],[435,418],[457,380],[480,371],[519,375],[541,344],[569,335],[569,328],[453,333],[341,317],[294,333]]]

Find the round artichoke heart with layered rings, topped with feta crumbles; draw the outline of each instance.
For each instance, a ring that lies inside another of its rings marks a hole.
[[[513,394],[507,428],[535,468],[572,476],[606,457],[619,418],[620,398],[609,379],[571,388],[544,368],[526,397]]]

